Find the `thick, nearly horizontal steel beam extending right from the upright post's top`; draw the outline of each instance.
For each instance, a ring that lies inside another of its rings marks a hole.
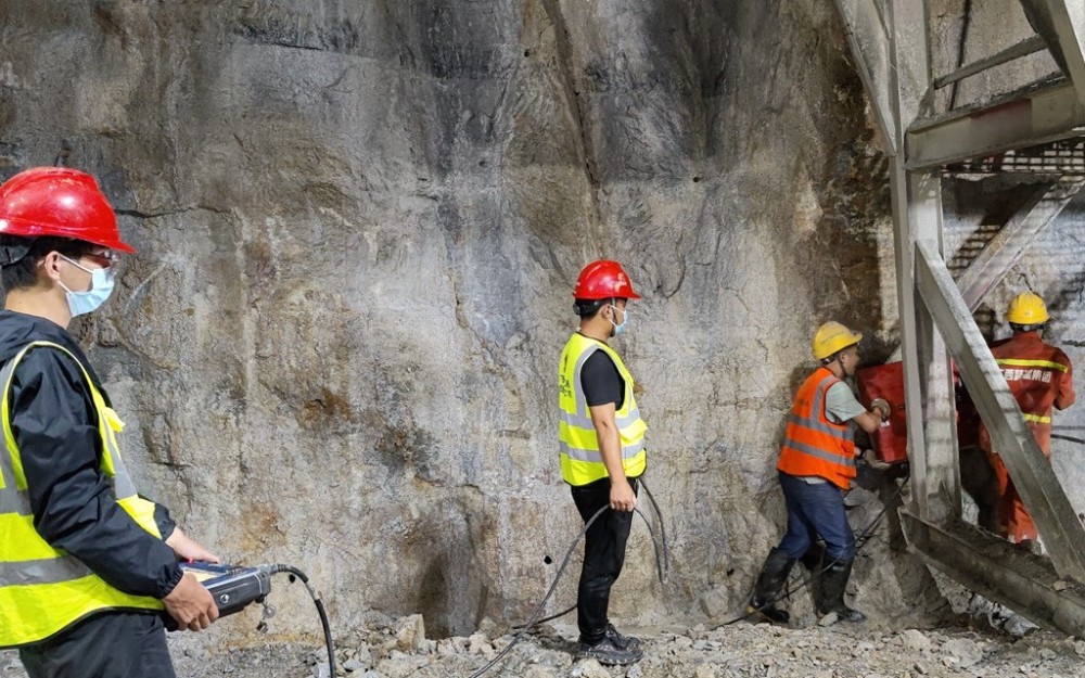
[[[1054,85],[915,123],[905,135],[905,166],[931,169],[1081,136],[1085,136],[1085,104],[1072,85]]]

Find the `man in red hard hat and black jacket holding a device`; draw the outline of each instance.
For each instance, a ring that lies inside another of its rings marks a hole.
[[[124,423],[67,332],[132,252],[88,174],[40,167],[0,186],[0,647],[31,678],[173,678],[163,610],[191,630],[218,616],[178,566],[218,559],[137,494]]]

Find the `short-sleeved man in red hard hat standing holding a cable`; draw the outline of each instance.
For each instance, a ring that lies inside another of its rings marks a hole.
[[[602,511],[584,538],[576,596],[578,657],[633,664],[640,641],[617,632],[607,616],[610,590],[622,573],[637,503],[637,478],[648,455],[633,376],[608,344],[629,327],[627,304],[639,299],[617,261],[588,264],[573,291],[580,327],[558,367],[561,475],[585,523]]]

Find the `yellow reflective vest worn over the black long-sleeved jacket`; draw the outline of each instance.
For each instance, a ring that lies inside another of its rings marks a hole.
[[[113,492],[139,525],[161,538],[154,521],[154,503],[136,494],[117,447],[116,433],[124,422],[91,381],[87,368],[72,351],[52,342],[27,344],[0,370],[0,418],[7,453],[0,453],[0,648],[44,640],[102,610],[162,610],[154,598],[130,596],[113,588],[81,561],[54,549],[34,528],[34,514],[18,446],[11,430],[9,396],[15,367],[33,348],[61,350],[79,366],[98,412],[102,442],[102,473]]]

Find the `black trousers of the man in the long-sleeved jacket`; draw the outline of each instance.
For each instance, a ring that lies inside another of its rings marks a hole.
[[[30,678],[177,678],[162,616],[107,612],[44,642],[21,648]]]

